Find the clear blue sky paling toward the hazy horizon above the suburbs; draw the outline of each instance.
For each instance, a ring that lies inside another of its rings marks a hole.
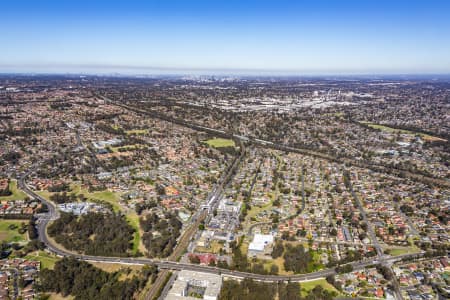
[[[0,72],[450,73],[450,1],[2,1]]]

